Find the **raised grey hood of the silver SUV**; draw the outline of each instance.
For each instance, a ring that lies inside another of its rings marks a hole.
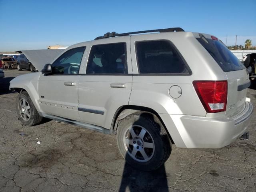
[[[40,50],[24,50],[16,51],[23,53],[32,65],[38,70],[42,71],[45,64],[52,64],[53,60],[63,52],[64,49],[40,49]]]

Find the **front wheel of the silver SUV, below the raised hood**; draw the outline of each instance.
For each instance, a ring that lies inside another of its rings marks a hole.
[[[43,119],[26,91],[20,93],[16,98],[16,112],[20,122],[25,126],[34,126]]]

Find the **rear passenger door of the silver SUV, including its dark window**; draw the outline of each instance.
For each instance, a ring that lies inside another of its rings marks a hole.
[[[132,89],[130,36],[94,40],[87,57],[79,79],[80,121],[109,129]]]

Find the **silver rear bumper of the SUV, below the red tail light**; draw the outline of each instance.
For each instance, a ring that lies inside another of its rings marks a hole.
[[[181,148],[221,148],[239,138],[252,116],[253,106],[245,103],[233,118],[206,118],[188,115],[160,114],[174,143]]]

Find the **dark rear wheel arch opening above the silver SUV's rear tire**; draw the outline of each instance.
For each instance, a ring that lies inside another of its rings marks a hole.
[[[154,114],[161,121],[161,123],[164,126],[172,144],[174,144],[174,141],[172,140],[172,137],[170,136],[163,120],[161,119],[161,117],[158,115],[158,113],[155,110],[153,110],[151,108],[148,108],[148,107],[135,106],[135,105],[125,105],[125,106],[120,107],[114,115],[114,118],[113,118],[112,124],[111,124],[111,129],[112,130],[117,130],[118,122],[120,120],[122,120],[123,118],[125,118],[126,116],[128,116],[130,114],[133,114],[133,113],[136,113],[136,112],[139,112],[139,111],[149,112],[149,113]],[[116,133],[116,131],[114,131],[114,133]]]

